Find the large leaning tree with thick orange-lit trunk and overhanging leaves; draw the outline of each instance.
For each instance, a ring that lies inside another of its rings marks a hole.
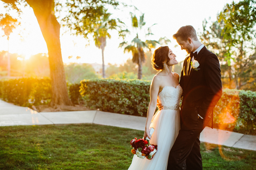
[[[2,0],[7,3],[9,7],[15,8],[19,11],[18,5],[29,5],[34,10],[34,14],[39,23],[42,35],[46,41],[50,64],[50,77],[52,85],[52,100],[50,105],[72,105],[68,97],[67,83],[65,78],[65,71],[62,62],[61,48],[60,48],[60,24],[55,16],[56,5],[61,8],[61,3],[54,0]],[[94,1],[94,0],[69,0],[67,7],[70,16],[78,17],[79,12],[88,9],[85,14],[88,18],[88,24],[85,24],[84,30],[90,31],[93,23],[97,23],[104,4],[118,5],[113,0]],[[72,17],[71,17],[72,18]],[[66,20],[68,24],[68,19]]]

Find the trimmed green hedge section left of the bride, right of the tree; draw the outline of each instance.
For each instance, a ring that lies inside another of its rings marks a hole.
[[[95,79],[81,81],[86,106],[102,111],[145,116],[150,102],[150,81]]]

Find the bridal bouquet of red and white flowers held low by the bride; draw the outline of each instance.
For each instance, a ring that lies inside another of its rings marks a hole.
[[[150,129],[150,131],[152,130]],[[152,133],[150,134],[150,136],[152,135]],[[130,144],[132,148],[132,153],[136,154],[141,159],[147,158],[150,160],[153,158],[154,154],[157,151],[157,145],[150,144],[148,138],[146,138],[146,140],[144,139],[137,140],[137,138],[134,138],[131,140]]]

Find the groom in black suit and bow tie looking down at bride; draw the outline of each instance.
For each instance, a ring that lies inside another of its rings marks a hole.
[[[170,150],[167,170],[200,170],[199,136],[205,126],[213,128],[213,108],[222,95],[220,64],[218,57],[200,43],[192,26],[181,27],[173,38],[190,55],[184,61],[180,76],[181,126]],[[158,103],[159,109],[161,106]]]

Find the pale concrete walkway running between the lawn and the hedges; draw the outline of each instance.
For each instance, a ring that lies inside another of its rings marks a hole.
[[[0,126],[93,123],[136,130],[145,129],[146,117],[102,111],[36,112],[0,100]],[[201,142],[256,151],[256,136],[206,127]]]

